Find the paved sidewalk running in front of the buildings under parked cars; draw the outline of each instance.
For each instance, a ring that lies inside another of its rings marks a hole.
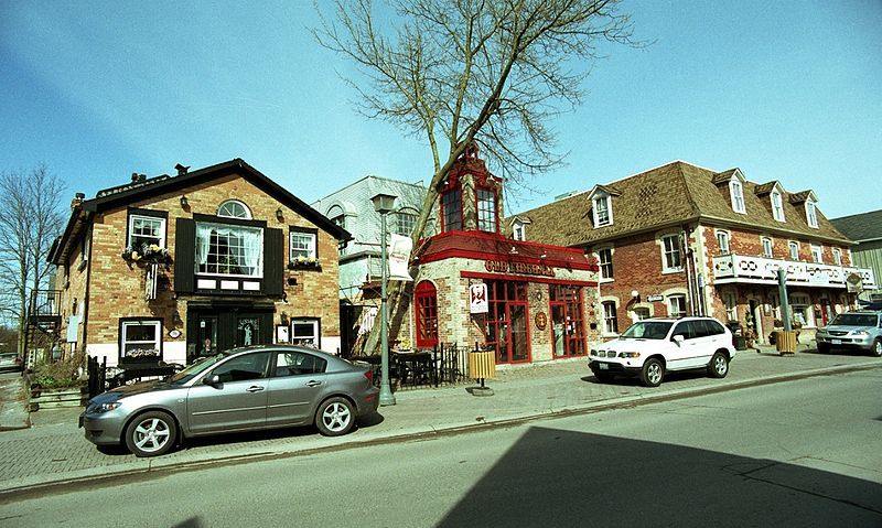
[[[486,382],[495,392],[491,397],[470,395],[466,388],[474,387],[474,384],[398,391],[396,406],[381,407],[378,417],[362,423],[345,437],[321,437],[314,428],[222,435],[189,441],[182,449],[155,459],[138,459],[122,450],[98,451],[77,428],[80,409],[41,410],[30,416],[28,427],[24,405],[8,400],[10,391],[6,389],[0,391],[0,427],[18,423],[25,429],[0,432],[0,496],[54,483],[413,439],[793,377],[882,367],[879,358],[821,355],[806,349],[805,345],[789,356],[779,356],[774,348],[762,347],[760,353],[749,349],[735,356],[724,379],[711,379],[700,374],[673,374],[660,387],[653,389],[639,386],[636,380],[621,378],[612,384],[599,384],[591,376],[587,363],[587,358],[576,358],[501,369],[496,379]],[[6,378],[3,381],[8,384]],[[734,395],[720,395],[720,398],[731,397]]]

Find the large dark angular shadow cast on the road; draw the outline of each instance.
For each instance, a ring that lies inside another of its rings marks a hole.
[[[438,526],[882,526],[882,485],[679,445],[531,428]]]

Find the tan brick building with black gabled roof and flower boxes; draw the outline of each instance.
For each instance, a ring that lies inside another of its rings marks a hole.
[[[118,363],[340,346],[341,227],[243,160],[79,194],[50,261],[65,353]]]

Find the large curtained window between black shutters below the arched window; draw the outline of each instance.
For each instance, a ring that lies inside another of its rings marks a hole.
[[[196,270],[205,274],[262,277],[263,229],[196,223]]]

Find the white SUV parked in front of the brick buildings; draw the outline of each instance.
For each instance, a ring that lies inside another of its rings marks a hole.
[[[723,378],[734,355],[732,333],[713,317],[646,319],[592,349],[588,366],[601,382],[639,376],[658,387],[666,370],[701,368]]]

